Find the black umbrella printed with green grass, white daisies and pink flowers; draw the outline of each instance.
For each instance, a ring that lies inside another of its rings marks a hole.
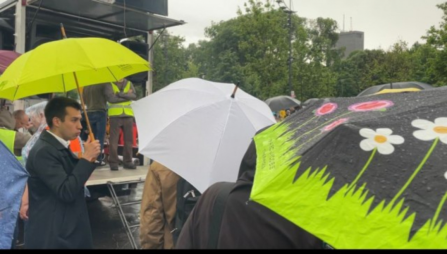
[[[447,88],[320,100],[254,140],[251,199],[335,248],[447,248]]]

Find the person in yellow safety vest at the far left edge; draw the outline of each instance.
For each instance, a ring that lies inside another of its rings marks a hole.
[[[15,119],[6,107],[0,108],[0,140],[20,160],[22,148],[31,138],[29,133],[14,131]]]

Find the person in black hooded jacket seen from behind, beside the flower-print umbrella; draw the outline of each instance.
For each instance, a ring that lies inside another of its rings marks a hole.
[[[321,249],[321,240],[267,207],[249,201],[255,168],[252,141],[225,204],[217,249]],[[213,206],[221,187],[222,183],[216,183],[202,194],[180,233],[177,249],[207,248]]]

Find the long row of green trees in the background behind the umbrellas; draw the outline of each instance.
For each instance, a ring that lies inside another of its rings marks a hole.
[[[390,82],[441,86],[447,81],[447,3],[437,6],[444,17],[423,37],[427,43],[409,47],[397,41],[386,51],[354,51],[342,59],[344,52],[335,48],[335,20],[294,13],[289,30],[289,15],[275,1],[247,0],[237,17],[207,27],[207,40],[185,48],[183,38],[162,36],[154,48],[154,90],[187,77],[240,82],[244,91],[261,100],[289,95],[291,89],[298,99],[306,100],[356,96]]]

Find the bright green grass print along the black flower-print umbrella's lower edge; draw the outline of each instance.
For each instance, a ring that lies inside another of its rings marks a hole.
[[[286,124],[274,125],[255,136],[258,157],[251,193],[253,201],[269,207],[337,249],[447,248],[447,227],[442,226],[442,220],[437,221],[447,194],[440,200],[433,218],[410,237],[416,214],[409,214],[409,207],[403,207],[405,200],[398,199],[405,186],[393,202],[388,200],[385,205],[385,200],[379,201],[373,209],[376,197],[370,195],[367,199],[366,183],[357,190],[346,183],[328,199],[334,183],[334,178],[328,179],[330,165],[312,169],[299,168],[300,162],[291,163],[300,159],[295,153],[292,136]],[[436,142],[412,177],[421,170]],[[304,173],[294,182],[298,169]],[[315,211],[320,214],[318,218]]]

